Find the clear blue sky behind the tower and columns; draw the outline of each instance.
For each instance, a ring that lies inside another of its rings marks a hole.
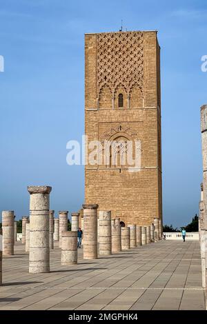
[[[158,30],[164,223],[198,212],[202,179],[199,107],[206,101],[206,1],[0,0],[0,210],[28,214],[27,185],[52,185],[50,207],[79,210],[83,167],[66,164],[81,141],[84,33]]]

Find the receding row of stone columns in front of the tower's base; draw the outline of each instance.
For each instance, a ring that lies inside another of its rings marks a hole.
[[[121,227],[120,219],[111,219],[110,211],[99,211],[98,215],[97,208],[96,204],[83,205],[83,259],[97,259],[98,242],[99,255],[108,255],[154,242],[155,228],[157,230],[156,237],[158,237],[156,241],[159,240],[159,232],[161,232],[159,219],[155,219],[157,227],[153,224]]]

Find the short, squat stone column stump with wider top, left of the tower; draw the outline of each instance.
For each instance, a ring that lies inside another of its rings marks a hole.
[[[63,231],[61,239],[61,265],[77,264],[77,231]]]

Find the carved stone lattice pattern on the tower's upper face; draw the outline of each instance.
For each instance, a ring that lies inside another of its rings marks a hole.
[[[97,35],[97,88],[104,86],[112,94],[122,86],[130,94],[137,85],[143,93],[143,32],[115,32]]]

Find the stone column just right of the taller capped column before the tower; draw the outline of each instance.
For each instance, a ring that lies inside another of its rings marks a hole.
[[[99,255],[109,255],[112,252],[111,212],[99,212]]]

